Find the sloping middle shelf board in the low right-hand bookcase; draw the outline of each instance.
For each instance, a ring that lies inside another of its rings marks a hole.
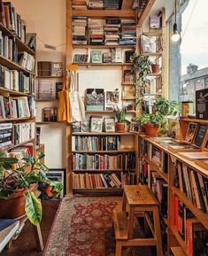
[[[196,206],[192,204],[191,201],[186,197],[186,195],[181,192],[181,190],[176,189],[174,187],[171,187],[171,190],[177,196],[181,202],[189,208],[189,210],[196,216],[196,219],[200,221],[205,229],[208,229],[208,218],[207,218],[207,213],[203,213],[202,210],[198,209]]]

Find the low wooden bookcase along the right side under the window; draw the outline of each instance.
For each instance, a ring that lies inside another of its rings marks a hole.
[[[196,122],[198,126],[205,124],[208,129],[207,120],[181,119],[180,137],[182,142],[186,138],[189,123],[193,122]],[[194,225],[201,227],[197,229],[200,232],[204,232],[202,233],[204,235],[198,234],[196,236],[207,236],[205,234],[208,232],[208,208],[204,208],[204,206],[206,207],[204,204],[207,200],[207,194],[205,196],[205,190],[203,189],[204,186],[207,186],[205,184],[208,181],[207,168],[199,166],[195,160],[188,160],[182,157],[180,150],[178,152],[170,151],[170,148],[165,146],[166,137],[163,140],[143,135],[137,135],[137,137],[139,163],[136,172],[139,174],[139,182],[146,183],[155,192],[157,198],[158,191],[161,190],[160,183],[162,186],[166,184],[167,187],[166,190],[162,189],[162,199],[160,194],[160,200],[158,201],[162,229],[164,229],[162,220],[166,219],[165,231],[162,233],[166,234],[166,237],[163,237],[163,244],[166,244],[167,241],[167,255],[193,255],[192,244],[195,243],[194,246],[197,246],[197,243],[199,243],[193,242],[194,237],[189,237],[194,236],[191,235],[193,234],[191,230],[195,230]],[[193,142],[195,139],[196,136],[193,138]],[[204,140],[207,141],[207,139],[207,136],[204,136]],[[158,162],[153,159],[155,149],[157,149],[155,155],[160,159]],[[204,148],[204,144],[202,144],[201,151],[207,151]],[[160,152],[160,155],[158,152]],[[166,154],[166,172],[164,172],[163,165],[159,164],[163,162],[164,154]],[[179,165],[181,166],[181,172],[179,171]],[[185,175],[186,173],[187,175]],[[180,180],[182,183],[180,183]],[[194,189],[193,184],[197,183],[200,185],[199,187],[195,185]],[[164,197],[166,200],[163,200]],[[197,197],[198,199],[196,199]],[[166,213],[168,213],[167,218],[163,216],[164,207],[166,208]],[[203,246],[205,247],[205,244]]]

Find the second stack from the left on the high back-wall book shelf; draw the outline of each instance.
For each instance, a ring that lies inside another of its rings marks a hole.
[[[103,19],[89,19],[89,43],[92,45],[104,44]]]

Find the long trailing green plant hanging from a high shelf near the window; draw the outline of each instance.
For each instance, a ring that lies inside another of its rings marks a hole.
[[[147,83],[147,76],[150,74],[150,59],[148,56],[135,55],[133,58],[133,69],[132,73],[134,74],[135,80],[135,90],[136,90],[136,105],[137,111],[140,115],[143,114],[143,94],[145,92],[145,86]]]

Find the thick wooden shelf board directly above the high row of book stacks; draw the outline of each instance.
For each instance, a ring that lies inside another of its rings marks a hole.
[[[126,19],[135,18],[133,10],[72,10],[72,16],[84,16],[89,18],[119,17]]]

